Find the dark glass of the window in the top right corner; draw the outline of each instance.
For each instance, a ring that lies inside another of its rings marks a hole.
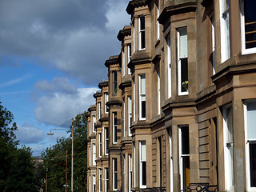
[[[255,0],[245,0],[246,49],[256,47],[256,14]]]

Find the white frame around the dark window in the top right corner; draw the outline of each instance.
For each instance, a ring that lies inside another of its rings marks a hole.
[[[255,54],[256,47],[246,49],[246,30],[245,30],[245,0],[240,0],[241,5],[241,39],[242,39],[242,54]]]

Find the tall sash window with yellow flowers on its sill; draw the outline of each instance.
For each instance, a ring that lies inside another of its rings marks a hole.
[[[178,29],[178,94],[188,94],[187,29]]]

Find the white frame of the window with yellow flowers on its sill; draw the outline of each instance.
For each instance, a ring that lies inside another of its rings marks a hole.
[[[181,48],[181,42],[180,42],[180,37],[181,37],[181,31],[186,30],[186,55],[184,57],[180,56],[180,48]],[[187,68],[189,67],[188,65],[188,43],[187,43],[187,27],[181,27],[177,29],[177,48],[178,48],[178,95],[186,95],[189,94],[189,91],[182,91],[182,58],[187,59]],[[189,71],[189,70],[188,70]],[[188,75],[188,74],[187,74]]]

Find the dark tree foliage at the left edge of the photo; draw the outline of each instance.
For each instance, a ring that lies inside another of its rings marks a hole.
[[[15,141],[13,114],[0,102],[0,191],[38,191],[42,187],[30,148]]]

